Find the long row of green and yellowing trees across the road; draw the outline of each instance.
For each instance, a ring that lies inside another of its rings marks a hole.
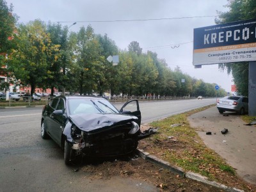
[[[36,87],[51,88],[52,93],[65,87],[80,94],[110,90],[129,96],[216,96],[215,84],[191,78],[178,66],[171,70],[156,53],[142,53],[136,41],[129,51],[119,50],[107,34],[95,34],[91,26],[68,33],[67,26],[35,20],[17,26],[12,43],[8,74],[19,80],[16,85],[31,85],[32,92]],[[107,61],[109,55],[119,55],[117,66]]]

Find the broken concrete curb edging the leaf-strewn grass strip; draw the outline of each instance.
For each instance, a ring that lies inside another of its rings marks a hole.
[[[148,152],[143,151],[142,149],[136,149],[136,154],[138,154],[138,156],[140,156],[141,158],[143,158],[147,161],[150,161],[151,163],[154,163],[154,164],[159,165],[159,166],[163,166],[163,168],[166,168],[167,170],[170,170],[174,174],[178,174],[181,177],[187,177],[189,179],[193,179],[195,181],[202,182],[204,184],[209,184],[209,185],[214,186],[216,188],[224,189],[225,191],[228,191],[228,192],[244,192],[244,190],[241,190],[241,189],[230,188],[230,187],[225,186],[223,184],[220,184],[218,182],[209,181],[207,179],[207,177],[205,177],[203,175],[195,174],[193,172],[184,172],[182,170],[182,168],[172,166],[167,161],[163,161],[162,159],[159,159],[156,156],[151,155]]]

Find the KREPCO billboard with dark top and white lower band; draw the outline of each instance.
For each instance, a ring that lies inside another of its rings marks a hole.
[[[256,19],[194,29],[194,66],[241,61],[256,61]]]

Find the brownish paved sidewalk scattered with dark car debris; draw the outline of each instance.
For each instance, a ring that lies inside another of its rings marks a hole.
[[[240,115],[233,112],[219,114],[216,107],[189,116],[191,127],[245,181],[256,184],[256,127],[245,126]],[[228,129],[223,135],[221,130]],[[212,135],[206,135],[211,131]]]

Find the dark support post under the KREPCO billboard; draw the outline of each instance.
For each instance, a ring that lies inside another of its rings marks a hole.
[[[256,61],[249,62],[248,96],[249,116],[256,116]]]

